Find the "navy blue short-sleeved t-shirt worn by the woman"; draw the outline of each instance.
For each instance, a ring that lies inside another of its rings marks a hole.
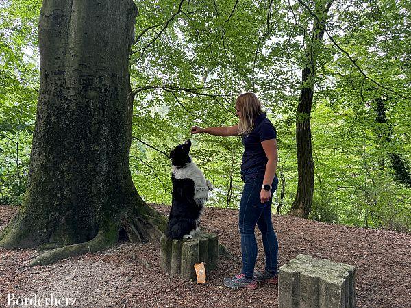
[[[242,135],[244,154],[242,155],[241,172],[249,168],[265,168],[269,159],[265,155],[261,142],[275,138],[277,138],[277,131],[263,112],[254,120],[253,130],[248,135]]]

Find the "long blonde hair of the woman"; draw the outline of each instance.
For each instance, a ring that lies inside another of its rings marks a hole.
[[[252,92],[243,93],[237,97],[236,107],[241,112],[238,123],[240,135],[250,133],[254,128],[254,119],[262,113],[260,100]]]

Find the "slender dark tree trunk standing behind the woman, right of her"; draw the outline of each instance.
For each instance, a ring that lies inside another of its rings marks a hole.
[[[314,194],[314,162],[312,159],[311,144],[311,108],[314,95],[314,68],[316,57],[319,55],[321,40],[325,31],[325,19],[332,1],[325,3],[321,8],[321,14],[316,15],[312,27],[313,35],[308,42],[306,50],[306,64],[302,70],[301,94],[296,114],[296,140],[297,140],[297,164],[298,186],[289,215],[308,218]]]

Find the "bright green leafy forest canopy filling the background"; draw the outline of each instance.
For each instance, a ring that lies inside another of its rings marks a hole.
[[[297,105],[312,84],[310,218],[411,231],[410,1],[134,2],[129,162],[146,202],[171,203],[168,152],[192,138],[191,155],[216,188],[207,205],[238,207],[240,138],[190,136],[190,127],[236,124],[234,101],[252,91],[277,129],[273,206],[286,214],[298,185]],[[26,189],[41,4],[0,3],[2,204],[21,203]],[[322,40],[313,39],[316,23]],[[314,74],[303,82],[307,65]]]

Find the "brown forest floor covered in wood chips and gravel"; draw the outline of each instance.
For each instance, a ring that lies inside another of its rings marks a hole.
[[[153,205],[168,214],[169,207]],[[0,206],[0,230],[17,207]],[[277,285],[231,290],[223,277],[240,271],[238,211],[207,207],[203,227],[219,234],[238,260],[221,257],[206,283],[179,281],[160,269],[157,242],[124,242],[49,266],[28,267],[39,252],[0,248],[0,307],[15,298],[76,298],[77,307],[277,307]],[[300,253],[356,266],[357,307],[411,307],[411,235],[345,227],[290,216],[273,215],[279,240],[279,266]],[[256,232],[258,234],[258,232]],[[264,254],[258,240],[256,268]],[[12,296],[12,295],[10,295]],[[66,302],[64,302],[65,305]]]

